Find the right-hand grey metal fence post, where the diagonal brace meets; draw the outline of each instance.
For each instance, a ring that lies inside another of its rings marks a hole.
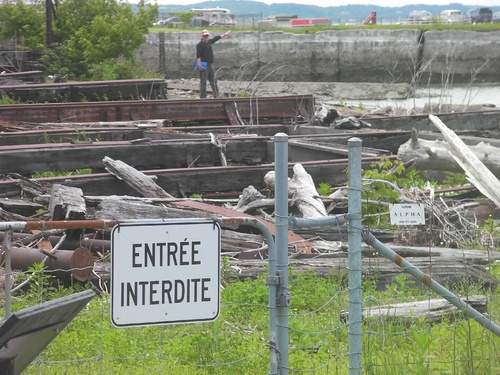
[[[361,144],[359,138],[347,141],[349,146],[349,374],[362,373],[361,310]]]

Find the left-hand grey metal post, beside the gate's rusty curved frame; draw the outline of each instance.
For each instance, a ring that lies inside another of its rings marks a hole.
[[[274,136],[275,228],[279,287],[276,303],[279,374],[288,374],[288,135]]]

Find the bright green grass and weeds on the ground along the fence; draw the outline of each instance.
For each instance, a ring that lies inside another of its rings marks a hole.
[[[40,278],[14,310],[69,292]],[[317,277],[291,272],[289,365],[309,374],[347,374],[348,332],[340,318],[348,309],[345,276]],[[431,293],[405,277],[377,291],[365,283],[364,307],[414,299]],[[432,297],[437,297],[432,295]],[[488,313],[499,319],[499,298],[489,295]],[[109,295],[96,297],[43,351],[24,374],[267,374],[269,328],[265,276],[227,283],[221,314],[210,323],[117,329],[110,323]],[[366,320],[366,374],[500,373],[498,337],[474,321],[429,325]],[[294,371],[291,371],[294,373]]]

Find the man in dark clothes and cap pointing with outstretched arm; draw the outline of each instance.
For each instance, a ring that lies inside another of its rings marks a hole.
[[[212,49],[212,44],[225,38],[229,34],[231,34],[231,31],[214,36],[210,39],[208,30],[203,30],[201,32],[201,41],[196,45],[196,64],[200,72],[200,98],[207,97],[207,79],[210,82],[210,86],[212,86],[214,98],[219,96],[219,88],[217,87],[217,80],[215,79],[214,51]]]

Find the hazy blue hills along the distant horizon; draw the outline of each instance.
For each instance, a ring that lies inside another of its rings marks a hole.
[[[173,0],[175,1],[175,0]],[[160,5],[160,16],[167,17],[169,12],[186,12],[191,8],[227,8],[236,16],[254,15],[267,18],[272,15],[297,15],[299,18],[365,19],[370,12],[377,12],[378,19],[406,18],[412,10],[427,10],[439,15],[445,9],[458,9],[463,13],[480,7],[451,3],[448,5],[406,5],[402,7],[381,7],[375,5],[342,5],[319,7],[302,4],[265,4],[254,0],[214,0],[191,5]],[[500,6],[492,7],[493,12],[500,11]]]

